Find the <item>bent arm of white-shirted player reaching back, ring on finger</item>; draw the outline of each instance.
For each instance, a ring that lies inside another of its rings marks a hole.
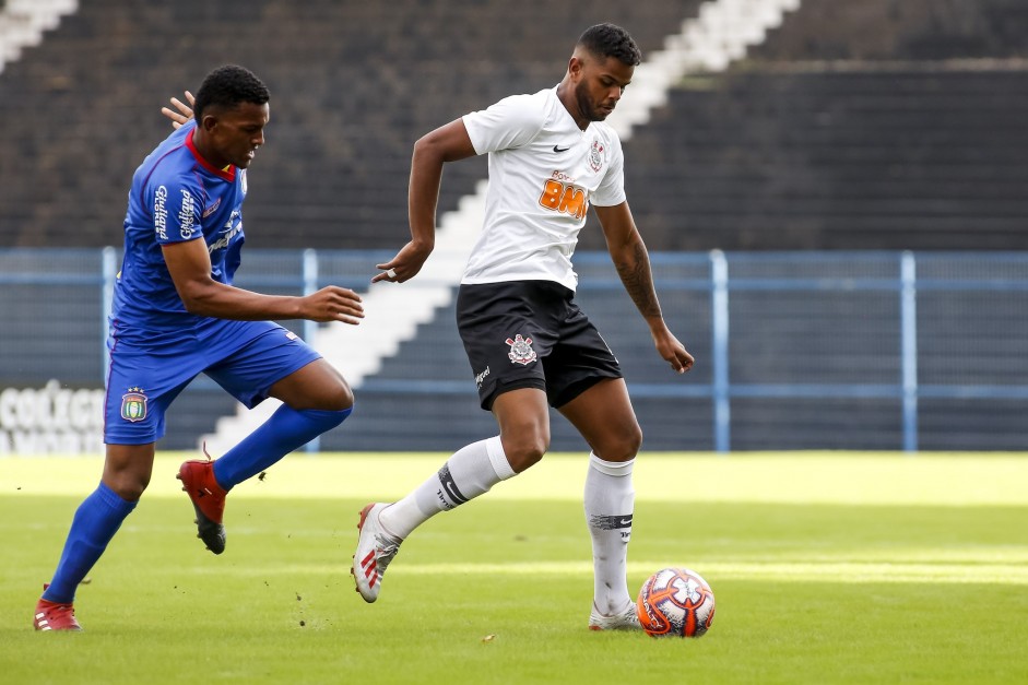
[[[403,283],[417,275],[436,244],[436,209],[439,203],[439,186],[442,182],[442,165],[475,154],[468,129],[461,119],[440,126],[414,143],[411,185],[407,189],[411,241],[404,245],[395,257],[375,265],[382,272],[376,274],[371,283]]]

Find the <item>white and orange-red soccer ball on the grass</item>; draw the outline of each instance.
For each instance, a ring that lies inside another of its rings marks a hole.
[[[694,570],[662,568],[642,583],[636,614],[650,637],[701,637],[713,623],[713,590]]]

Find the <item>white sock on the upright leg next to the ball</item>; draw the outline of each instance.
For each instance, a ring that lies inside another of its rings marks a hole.
[[[586,522],[592,535],[595,574],[593,601],[612,616],[631,603],[628,593],[628,541],[636,492],[631,486],[635,460],[604,461],[589,454],[586,474]]]

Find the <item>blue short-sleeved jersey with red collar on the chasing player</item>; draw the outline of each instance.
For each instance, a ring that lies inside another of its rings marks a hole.
[[[211,166],[192,143],[194,129],[189,121],[173,132],[132,177],[111,315],[111,333],[118,339],[186,342],[196,340],[209,320],[186,311],[162,245],[203,240],[211,276],[225,284],[239,265],[246,170]]]

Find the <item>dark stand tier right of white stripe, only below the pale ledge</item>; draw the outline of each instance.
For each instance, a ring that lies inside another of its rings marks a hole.
[[[755,64],[687,86],[628,145],[648,244],[1028,247],[1028,70]]]

